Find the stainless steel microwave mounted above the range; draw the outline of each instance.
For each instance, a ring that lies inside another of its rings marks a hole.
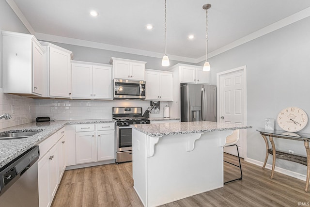
[[[145,99],[145,81],[114,79],[113,99]]]

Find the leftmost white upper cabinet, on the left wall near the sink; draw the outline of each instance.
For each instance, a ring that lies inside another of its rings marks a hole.
[[[22,96],[44,94],[44,48],[30,34],[2,31],[3,92]]]

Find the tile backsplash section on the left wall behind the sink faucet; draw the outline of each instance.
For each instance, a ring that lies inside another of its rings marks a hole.
[[[0,120],[0,129],[35,121],[35,100],[0,92],[0,113],[10,113],[12,118]],[[0,115],[1,115],[0,114]]]

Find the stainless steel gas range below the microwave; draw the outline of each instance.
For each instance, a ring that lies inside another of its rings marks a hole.
[[[132,161],[132,128],[129,125],[150,124],[142,117],[141,107],[113,107],[112,118],[116,120],[116,164]]]

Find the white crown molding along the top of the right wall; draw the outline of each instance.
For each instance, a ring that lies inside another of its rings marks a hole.
[[[256,32],[250,33],[247,36],[242,37],[242,38],[240,38],[240,39],[238,39],[238,40],[236,40],[236,41],[234,41],[234,42],[232,42],[232,43],[230,43],[224,47],[218,48],[218,49],[208,53],[208,57],[209,58],[214,57],[218,54],[221,54],[221,53],[226,52],[230,49],[236,48],[242,44],[245,44],[249,41],[252,41],[252,40],[259,38],[265,34],[268,34],[270,32],[274,32],[276,30],[279,30],[283,27],[286,27],[290,24],[293,24],[293,23],[295,23],[301,19],[307,18],[309,16],[310,16],[310,7],[306,8],[304,10],[301,10],[300,12],[297,12],[294,15],[285,17],[284,19],[281,19],[281,20],[279,20],[273,24],[270,24],[267,27],[264,27],[264,28],[262,28]],[[198,58],[197,60],[199,60],[198,63],[205,61],[205,55]]]

